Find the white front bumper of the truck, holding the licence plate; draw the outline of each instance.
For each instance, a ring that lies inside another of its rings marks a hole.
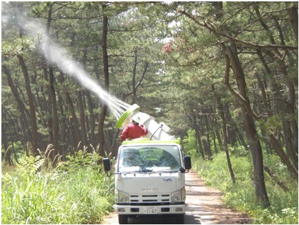
[[[122,215],[183,214],[186,212],[186,204],[169,204],[156,206],[115,204],[113,208],[116,213]]]

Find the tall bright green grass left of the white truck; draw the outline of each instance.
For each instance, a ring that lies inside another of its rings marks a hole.
[[[1,224],[99,224],[114,192],[98,160],[97,153],[79,151],[55,169],[33,156],[16,167],[2,163]]]

